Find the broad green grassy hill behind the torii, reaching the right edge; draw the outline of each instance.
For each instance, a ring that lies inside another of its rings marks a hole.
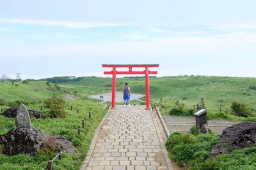
[[[122,91],[124,82],[129,82],[132,92],[145,94],[145,78],[117,78],[116,90]],[[111,92],[111,78],[84,77],[80,81],[61,83],[61,87],[70,88],[77,94],[100,94]],[[217,76],[170,76],[150,78],[150,99],[159,103],[184,103],[192,108],[204,97],[205,106],[212,111],[218,108],[230,108],[234,101],[245,103],[256,110],[256,78],[217,77]]]

